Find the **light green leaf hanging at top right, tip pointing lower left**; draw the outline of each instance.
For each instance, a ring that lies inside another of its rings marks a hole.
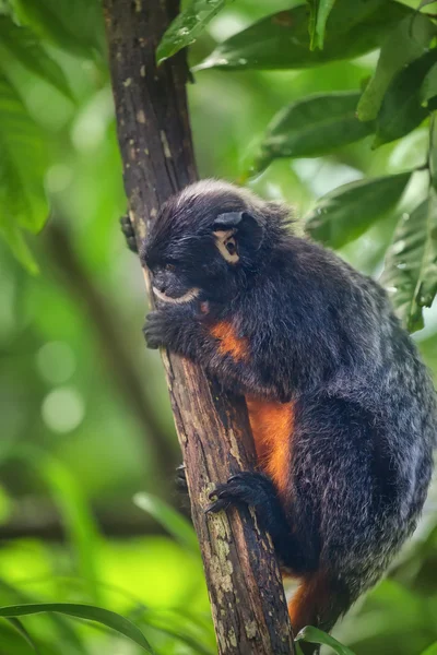
[[[422,14],[409,15],[389,33],[382,44],[376,71],[358,103],[359,120],[374,120],[393,76],[426,50],[436,34],[434,23]]]

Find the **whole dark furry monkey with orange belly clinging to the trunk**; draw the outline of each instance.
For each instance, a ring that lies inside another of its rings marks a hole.
[[[255,508],[299,582],[296,634],[329,632],[413,533],[437,410],[386,291],[296,236],[290,214],[203,180],[163,204],[140,255],[156,299],[149,347],[190,358],[246,400],[257,469],[218,484],[208,511]]]

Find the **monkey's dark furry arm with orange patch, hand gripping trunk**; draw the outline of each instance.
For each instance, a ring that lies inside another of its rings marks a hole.
[[[227,391],[285,402],[284,390],[265,381],[247,337],[232,324],[204,315],[199,302],[168,305],[149,313],[144,336],[150,348],[167,347],[210,371]]]

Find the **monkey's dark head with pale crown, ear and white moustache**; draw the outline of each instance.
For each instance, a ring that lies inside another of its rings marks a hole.
[[[260,273],[288,210],[216,180],[191,184],[161,209],[141,259],[164,302],[229,300]]]

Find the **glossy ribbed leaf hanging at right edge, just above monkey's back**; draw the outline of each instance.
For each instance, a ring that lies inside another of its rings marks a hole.
[[[437,200],[432,190],[412,214],[404,214],[394,231],[381,284],[410,331],[424,326],[422,308],[430,307],[437,290]]]

